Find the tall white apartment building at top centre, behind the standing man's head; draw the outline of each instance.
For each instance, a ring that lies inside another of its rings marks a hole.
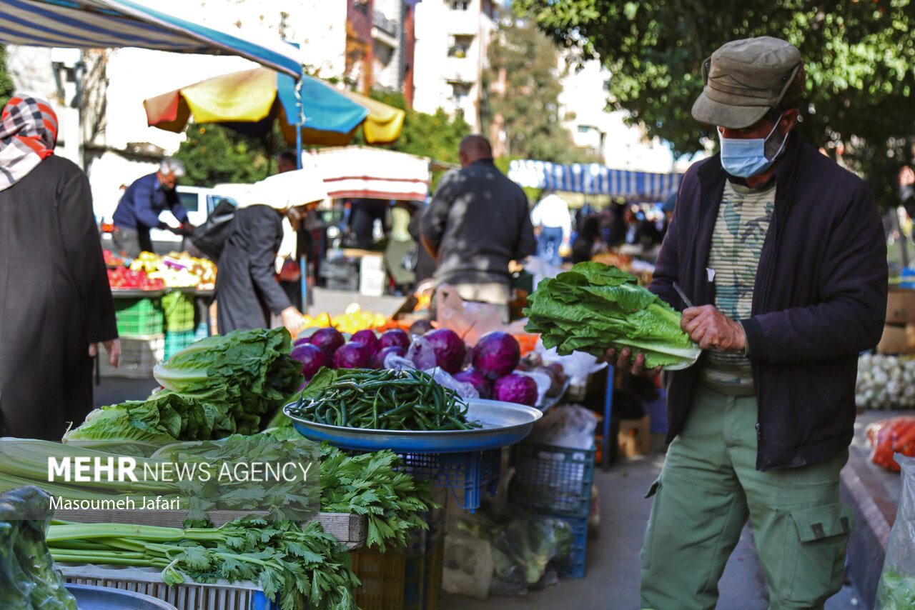
[[[462,114],[479,132],[483,69],[496,19],[492,0],[422,0],[415,6],[416,110]]]

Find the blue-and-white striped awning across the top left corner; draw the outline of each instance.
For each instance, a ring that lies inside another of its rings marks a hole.
[[[238,55],[295,79],[302,74],[298,49],[291,44],[254,42],[136,0],[0,0],[0,43]]]

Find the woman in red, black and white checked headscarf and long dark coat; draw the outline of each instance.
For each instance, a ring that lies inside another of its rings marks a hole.
[[[54,155],[57,115],[14,96],[0,119],[0,435],[59,440],[92,410],[98,343],[121,352],[89,180]]]

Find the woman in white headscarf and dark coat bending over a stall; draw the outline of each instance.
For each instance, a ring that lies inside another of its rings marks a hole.
[[[264,178],[241,197],[216,273],[216,320],[222,335],[269,328],[280,316],[293,337],[305,326],[302,313],[276,280],[283,219],[293,227],[308,205],[326,198],[317,169],[297,169]]]

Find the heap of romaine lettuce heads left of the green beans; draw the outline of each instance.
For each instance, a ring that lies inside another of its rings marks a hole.
[[[302,382],[285,328],[208,337],[159,363],[165,388],[145,401],[91,412],[64,442],[206,441],[253,434]],[[99,445],[93,445],[99,446]]]

